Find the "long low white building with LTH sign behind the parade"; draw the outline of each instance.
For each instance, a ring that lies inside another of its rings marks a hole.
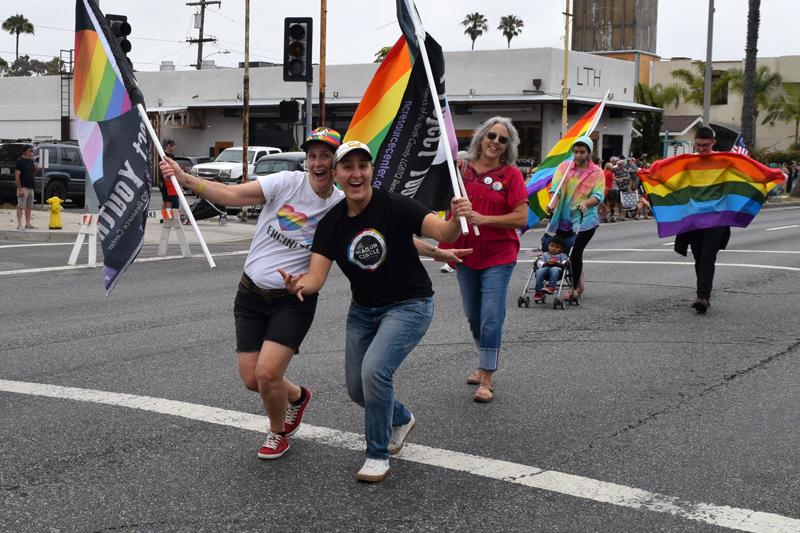
[[[450,52],[445,53],[445,63],[448,100],[462,143],[494,115],[513,119],[522,139],[521,158],[538,162],[559,139],[563,50]],[[347,130],[377,67],[375,63],[328,66],[328,126],[342,133]],[[633,101],[634,68],[628,61],[569,54],[570,123],[606,91],[611,93],[596,132],[596,153],[604,158],[628,153],[634,113],[652,109]],[[137,79],[148,111],[160,115],[161,136],[174,139],[178,153],[205,155],[242,143],[242,74],[241,69],[140,72]],[[318,72],[314,79],[319,79]],[[315,83],[315,126],[318,93]],[[283,82],[280,66],[251,68],[249,142],[284,149],[295,146],[302,125],[279,121],[278,104],[305,94],[305,84]],[[61,103],[59,77],[0,78],[0,138],[61,137]],[[72,138],[74,132],[72,124]]]

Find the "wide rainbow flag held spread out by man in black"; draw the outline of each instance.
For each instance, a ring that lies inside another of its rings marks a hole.
[[[747,227],[767,193],[783,180],[780,170],[732,152],[662,159],[639,176],[659,237],[717,226]]]

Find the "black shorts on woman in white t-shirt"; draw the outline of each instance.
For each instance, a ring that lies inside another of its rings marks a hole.
[[[236,351],[260,352],[264,341],[271,341],[299,352],[317,310],[316,294],[303,298],[290,294],[268,300],[240,283],[233,304]]]

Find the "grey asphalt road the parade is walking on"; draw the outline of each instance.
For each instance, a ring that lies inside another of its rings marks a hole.
[[[267,462],[233,353],[245,245],[212,246],[214,270],[138,261],[109,297],[99,269],[48,270],[69,245],[0,246],[0,531],[798,530],[795,224],[765,209],[734,230],[705,316],[652,221],[600,228],[565,311],[517,307],[523,250],[485,405],[455,276],[425,263],[435,318],[396,376],[416,446],[379,485],[355,481],[338,270],[290,367],[314,392],[305,427]]]

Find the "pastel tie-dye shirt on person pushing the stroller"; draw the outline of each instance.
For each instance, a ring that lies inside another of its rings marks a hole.
[[[584,168],[575,168],[573,161],[564,161],[556,169],[553,175],[553,182],[550,186],[550,193],[554,193],[558,184],[566,176],[566,182],[559,193],[559,201],[547,225],[547,233],[555,235],[556,231],[588,231],[600,225],[600,217],[597,215],[597,205],[588,207],[581,216],[578,205],[590,198],[597,198],[599,202],[605,198],[606,180],[603,171],[592,163]]]

